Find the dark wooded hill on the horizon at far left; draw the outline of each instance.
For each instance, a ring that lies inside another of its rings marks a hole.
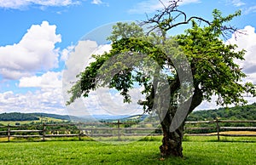
[[[28,113],[13,112],[0,114],[0,121],[33,121],[39,119],[39,117]]]

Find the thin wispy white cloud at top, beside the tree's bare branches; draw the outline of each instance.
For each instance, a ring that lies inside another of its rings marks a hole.
[[[200,0],[183,0],[182,2],[178,3],[179,5],[185,5],[189,3],[200,3]],[[166,6],[169,3],[168,0],[163,0]],[[148,0],[143,1],[141,3],[137,3],[133,9],[130,9],[128,12],[131,14],[144,14],[144,13],[153,13],[156,10],[164,9],[163,4],[156,0]]]

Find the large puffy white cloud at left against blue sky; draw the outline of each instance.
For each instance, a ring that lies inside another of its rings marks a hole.
[[[56,26],[43,21],[33,25],[20,43],[0,47],[0,75],[7,79],[19,79],[36,71],[45,71],[58,66],[61,35],[55,34]]]

